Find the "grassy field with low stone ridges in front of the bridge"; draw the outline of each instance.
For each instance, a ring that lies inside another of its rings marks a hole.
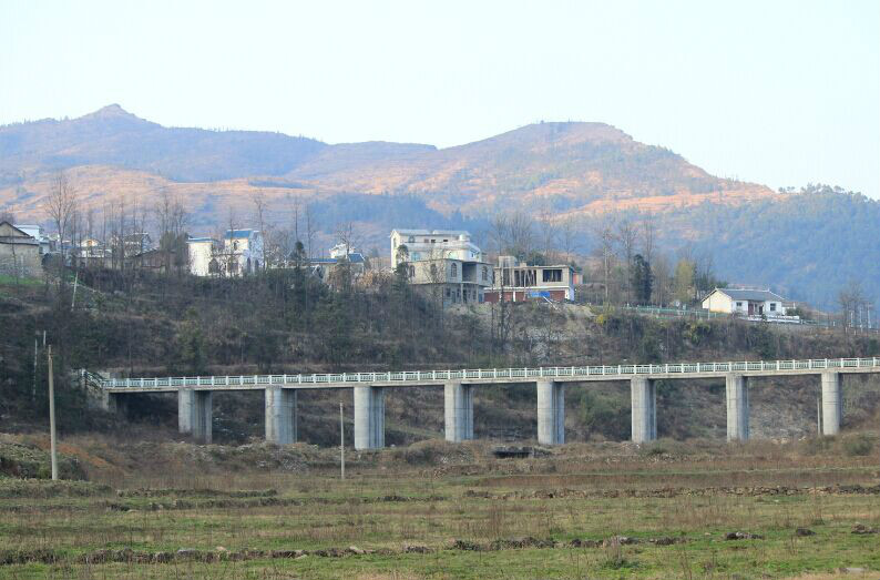
[[[428,441],[352,454],[345,481],[329,449],[297,474],[0,479],[0,578],[878,578],[877,457],[842,449],[604,444],[497,459],[488,444]]]

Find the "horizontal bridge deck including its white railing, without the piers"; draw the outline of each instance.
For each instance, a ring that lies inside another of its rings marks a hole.
[[[744,376],[811,375],[836,373],[880,373],[880,357],[818,358],[807,360],[756,360],[728,363],[675,363],[663,365],[555,366],[538,368],[478,368],[460,370],[406,370],[388,373],[330,373],[310,375],[227,375],[208,377],[88,378],[114,393],[287,388],[415,387],[443,385],[450,380],[467,384],[510,384],[554,381],[628,380],[635,376],[651,379],[717,378],[730,373]]]

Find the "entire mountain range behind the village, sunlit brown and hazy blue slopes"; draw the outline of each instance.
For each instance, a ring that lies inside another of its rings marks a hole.
[[[59,170],[84,212],[119,203],[149,212],[170,195],[184,202],[195,234],[233,218],[249,225],[255,200],[276,228],[294,230],[308,207],[318,253],[341,224],[354,223],[359,245],[383,255],[393,227],[467,228],[488,242],[495,216],[519,212],[569,223],[572,248],[589,256],[602,224],[653,215],[659,251],[708,255],[722,279],[826,308],[850,281],[870,302],[880,296],[878,202],[719,179],[604,123],[542,122],[441,150],[165,128],[119,105],[0,126],[0,210],[48,225]]]

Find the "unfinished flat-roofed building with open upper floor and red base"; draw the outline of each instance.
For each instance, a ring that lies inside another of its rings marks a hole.
[[[494,267],[492,289],[485,291],[485,302],[524,302],[533,299],[573,301],[574,267],[570,264],[530,266],[514,256],[499,256]]]

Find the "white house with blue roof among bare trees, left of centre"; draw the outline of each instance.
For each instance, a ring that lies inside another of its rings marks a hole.
[[[191,237],[187,246],[190,272],[195,276],[243,276],[266,266],[263,234],[257,230],[227,230],[222,243]]]

